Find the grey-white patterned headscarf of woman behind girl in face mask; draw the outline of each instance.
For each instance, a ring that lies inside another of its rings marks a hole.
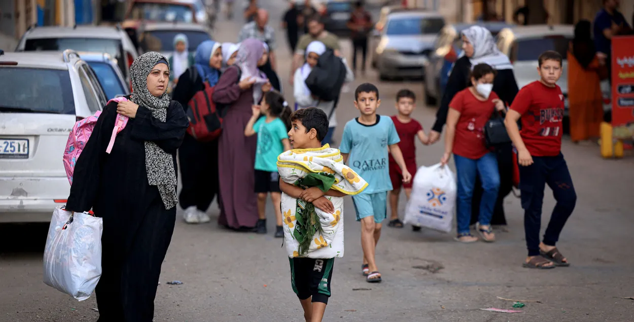
[[[472,67],[479,63],[486,63],[497,70],[513,69],[511,61],[498,49],[488,29],[482,26],[471,26],[463,30],[462,34],[474,46],[474,55],[469,58]]]

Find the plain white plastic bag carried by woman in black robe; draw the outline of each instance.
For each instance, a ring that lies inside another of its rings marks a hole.
[[[101,218],[56,208],[44,248],[44,283],[85,300],[101,277]]]

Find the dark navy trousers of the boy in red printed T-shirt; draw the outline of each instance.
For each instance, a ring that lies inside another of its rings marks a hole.
[[[559,234],[564,229],[568,217],[573,214],[577,195],[568,165],[561,153],[556,157],[533,157],[533,164],[519,167],[519,177],[526,247],[529,256],[536,256],[540,254],[541,205],[546,184],[552,189],[557,201],[544,233],[543,242],[546,245],[555,246],[559,240]]]

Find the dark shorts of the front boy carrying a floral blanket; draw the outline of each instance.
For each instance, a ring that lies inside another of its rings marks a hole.
[[[300,300],[313,297],[312,302],[328,304],[333,258],[289,258],[290,285]]]

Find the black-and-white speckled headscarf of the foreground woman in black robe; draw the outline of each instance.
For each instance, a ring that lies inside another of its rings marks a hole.
[[[169,68],[167,58],[155,51],[145,53],[133,61],[130,66],[133,89],[131,100],[150,110],[156,119],[165,122],[171,99],[167,95],[167,91],[159,97],[152,95],[147,84],[148,75],[159,62],[165,63]],[[172,155],[163,151],[156,143],[145,141],[145,169],[148,173],[148,183],[159,188],[165,209],[174,207],[178,198],[176,197],[177,181]]]

